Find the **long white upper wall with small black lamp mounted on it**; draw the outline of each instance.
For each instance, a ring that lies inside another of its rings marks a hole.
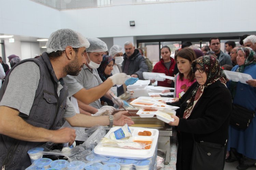
[[[255,6],[255,0],[205,0],[69,10],[60,12],[61,27],[87,37],[247,32],[255,31]]]

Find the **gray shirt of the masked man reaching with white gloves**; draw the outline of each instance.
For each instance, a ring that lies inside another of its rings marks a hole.
[[[83,69],[75,78],[77,82],[82,84],[86,89],[96,87],[102,83],[97,69],[91,70],[86,65],[84,65]],[[97,109],[101,108],[100,99],[94,101],[93,103],[90,103],[90,106],[93,106]]]

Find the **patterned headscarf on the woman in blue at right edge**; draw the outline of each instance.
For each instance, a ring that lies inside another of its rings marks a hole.
[[[241,47],[238,50],[241,50],[244,54],[244,64],[237,67],[236,72],[242,73],[244,71],[244,68],[246,66],[252,65],[256,63],[256,53],[251,49],[250,47]],[[236,90],[237,90],[237,82],[230,82],[229,86],[232,98],[236,96]]]

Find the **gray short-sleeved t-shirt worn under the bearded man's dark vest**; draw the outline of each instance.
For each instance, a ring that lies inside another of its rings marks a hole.
[[[34,62],[26,62],[18,65],[10,74],[9,83],[6,87],[0,106],[8,106],[17,109],[20,113],[28,116],[34,102],[35,91],[40,79],[40,69]],[[58,83],[58,95],[63,88]],[[74,116],[75,110],[70,100],[67,98],[69,106],[63,117]]]

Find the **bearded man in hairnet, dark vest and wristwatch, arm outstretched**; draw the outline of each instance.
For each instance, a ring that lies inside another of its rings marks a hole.
[[[86,38],[73,30],[60,29],[50,35],[46,47],[47,52],[42,56],[16,64],[0,89],[2,169],[27,168],[31,164],[27,151],[44,142],[71,145],[76,137],[75,130],[59,129],[62,118],[72,126],[83,127],[133,124],[123,115],[125,112],[97,118],[75,113],[62,78],[67,74],[77,75],[86,64],[86,48],[89,47]],[[109,84],[112,86],[118,80],[110,78]],[[87,98],[89,102],[95,99],[93,95]]]

